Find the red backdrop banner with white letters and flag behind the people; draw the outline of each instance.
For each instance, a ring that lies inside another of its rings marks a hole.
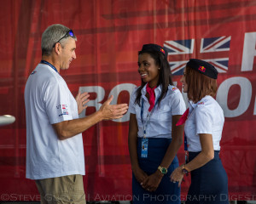
[[[221,159],[230,200],[256,200],[256,2],[253,0],[0,0],[0,115],[15,123],[0,127],[0,201],[38,201],[26,172],[26,79],[41,59],[41,36],[61,23],[78,37],[77,59],[61,75],[75,96],[90,92],[98,110],[109,95],[129,103],[140,84],[137,51],[144,43],[168,50],[173,81],[189,58],[218,68],[216,99],[224,109]],[[184,94],[184,99],[186,96]],[[131,200],[129,115],[100,122],[83,133],[88,201]],[[255,131],[255,132],[254,132]],[[178,158],[183,162],[183,146]],[[185,200],[189,178],[182,184]]]

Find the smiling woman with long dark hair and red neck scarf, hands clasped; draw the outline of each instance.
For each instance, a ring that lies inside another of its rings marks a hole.
[[[178,167],[176,154],[183,141],[183,126],[175,124],[185,104],[172,85],[165,48],[143,45],[138,72],[142,83],[131,94],[129,107],[133,204],[180,203],[180,188],[169,176]]]

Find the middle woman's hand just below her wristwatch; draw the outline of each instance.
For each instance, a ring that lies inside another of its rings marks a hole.
[[[157,190],[163,176],[164,175],[157,170],[155,173],[148,176],[148,178],[146,178],[146,180],[143,182],[143,189],[150,192]]]

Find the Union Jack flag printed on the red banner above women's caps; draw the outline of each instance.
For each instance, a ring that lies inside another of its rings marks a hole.
[[[183,75],[183,69],[191,58],[209,62],[219,73],[227,72],[230,40],[230,36],[224,36],[164,42],[172,74]]]

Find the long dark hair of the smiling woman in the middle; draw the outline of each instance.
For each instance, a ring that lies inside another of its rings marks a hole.
[[[171,69],[170,69],[170,65],[169,62],[167,61],[167,59],[165,58],[164,54],[161,54],[160,52],[156,52],[156,51],[151,51],[151,50],[147,50],[147,51],[140,51],[138,53],[138,55],[140,54],[150,54],[150,56],[154,59],[154,64],[160,67],[160,74],[159,74],[159,81],[157,83],[157,86],[162,85],[162,90],[161,90],[161,94],[160,94],[160,98],[159,98],[159,105],[160,105],[160,101],[166,96],[167,91],[168,91],[168,86],[172,83],[172,73],[171,73]],[[142,89],[143,87],[146,85],[146,82],[141,83],[141,86],[137,89],[137,97],[135,99],[135,102],[140,105],[140,99],[142,96]]]

